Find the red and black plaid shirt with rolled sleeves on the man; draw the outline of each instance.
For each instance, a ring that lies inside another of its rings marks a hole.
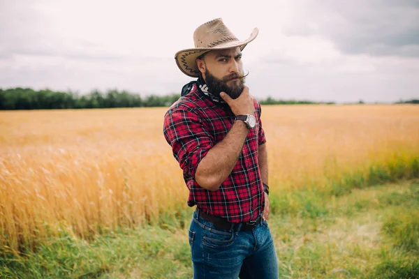
[[[216,191],[201,188],[194,177],[200,160],[233,126],[235,115],[230,107],[214,102],[193,84],[191,92],[179,98],[166,112],[163,133],[183,170],[189,188],[189,206],[198,205],[200,210],[232,223],[255,220],[263,212],[265,195],[258,146],[266,140],[257,100],[254,106],[256,127],[249,130],[233,171]]]

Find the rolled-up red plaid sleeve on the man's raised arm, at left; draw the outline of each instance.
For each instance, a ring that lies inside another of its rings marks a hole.
[[[163,133],[184,176],[194,178],[200,161],[214,146],[200,117],[191,111],[172,110],[165,116]]]

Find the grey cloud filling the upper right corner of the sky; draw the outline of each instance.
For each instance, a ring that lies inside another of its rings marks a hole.
[[[418,1],[303,1],[288,36],[318,35],[348,54],[419,56]]]

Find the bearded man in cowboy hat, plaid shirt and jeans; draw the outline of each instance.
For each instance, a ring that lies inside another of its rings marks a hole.
[[[177,66],[198,80],[164,118],[163,132],[183,169],[193,278],[278,278],[267,225],[267,151],[260,104],[244,86],[242,50],[221,18],[193,34],[195,48],[177,52]]]

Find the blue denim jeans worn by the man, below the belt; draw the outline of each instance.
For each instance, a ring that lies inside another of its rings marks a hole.
[[[261,221],[252,232],[215,229],[193,212],[189,227],[194,279],[277,279],[277,254],[270,229]]]

